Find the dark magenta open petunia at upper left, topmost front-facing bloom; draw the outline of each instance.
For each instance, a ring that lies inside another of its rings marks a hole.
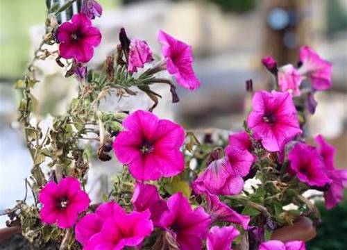
[[[75,58],[78,62],[87,63],[93,57],[94,47],[101,42],[101,33],[92,26],[87,16],[76,14],[71,22],[59,26],[56,38],[62,58]]]

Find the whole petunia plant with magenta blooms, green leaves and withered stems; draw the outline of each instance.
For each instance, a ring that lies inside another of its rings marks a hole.
[[[60,249],[227,250],[244,244],[250,249],[304,250],[303,239],[281,242],[273,232],[303,216],[319,219],[313,204],[302,196],[305,191],[323,191],[330,209],[347,187],[347,170],[335,167],[335,148],[322,135],[316,136],[315,147],[305,142],[296,106],[296,98],[306,94],[312,113],[314,92],[331,86],[330,63],[310,47],[301,48],[298,67],[278,67],[273,58],[264,58],[262,63],[276,76],[275,90],[253,93],[242,131],[217,141],[210,136],[200,143],[192,131],[151,112],[160,97],[151,90],[152,84],[168,84],[172,101],[179,101],[176,85],[158,72],[166,71],[188,90],[199,88],[191,47],[159,31],[163,59],[153,63],[149,44],[129,39],[121,28],[120,44],[104,67],[87,69],[85,63],[101,42],[92,19],[101,15],[99,3],[85,0],[71,21],[46,29],[54,31],[52,40],[59,44],[57,62],[67,59],[66,76],[74,74],[81,84],[67,114],[56,118],[44,136],[31,125],[30,109],[21,106],[26,133],[35,135],[27,138],[35,163],[31,187],[40,201],[31,208],[25,201],[19,203],[22,226],[28,225],[23,231],[39,232],[35,238],[59,242]],[[24,77],[25,98],[31,97],[28,81],[33,76],[29,76]],[[250,87],[251,81],[247,84]],[[134,88],[154,101],[149,111],[99,109],[100,99],[111,91],[122,98],[137,94]],[[90,133],[96,138],[88,137]],[[84,139],[100,142],[96,153],[100,160],[114,154],[124,165],[102,203],[93,203],[84,190],[86,158],[93,148],[79,143]],[[51,158],[49,181],[40,168],[46,157]],[[260,185],[246,188],[249,179]],[[289,204],[298,210],[285,210]]]

